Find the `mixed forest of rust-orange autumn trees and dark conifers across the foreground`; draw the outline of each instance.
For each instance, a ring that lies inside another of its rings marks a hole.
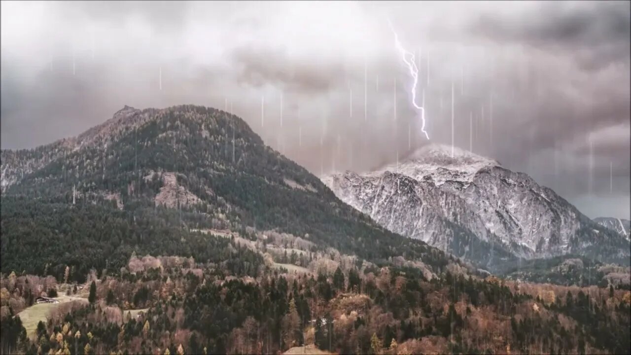
[[[33,334],[13,307],[28,306],[44,280],[14,273],[1,280],[13,300],[6,306],[3,297],[3,352],[254,354],[304,344],[344,354],[631,351],[626,290],[407,271],[362,264],[301,274],[259,265],[254,277],[237,277],[192,258],[134,255],[120,276],[91,272],[88,302],[60,307]],[[72,284],[65,281],[49,287]],[[131,316],[139,308],[146,311]]]

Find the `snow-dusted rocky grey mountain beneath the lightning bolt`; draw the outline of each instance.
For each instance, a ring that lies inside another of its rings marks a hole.
[[[322,181],[387,229],[489,267],[567,253],[628,263],[627,240],[528,175],[459,148],[426,145]]]

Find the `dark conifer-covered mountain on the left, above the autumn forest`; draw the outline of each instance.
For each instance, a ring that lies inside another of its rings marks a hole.
[[[450,263],[341,202],[242,119],[217,109],[126,106],[79,136],[3,150],[0,159],[3,270],[49,268],[62,277],[73,265],[85,275],[120,268],[133,252],[208,260],[216,255],[196,231],[226,230],[253,241],[264,231],[289,233],[308,245],[302,252],[377,265],[394,258],[430,274]]]

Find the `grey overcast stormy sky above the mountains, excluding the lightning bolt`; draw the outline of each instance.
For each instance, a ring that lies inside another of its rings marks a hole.
[[[124,105],[227,107],[317,175],[453,136],[589,217],[629,219],[629,4],[3,1],[1,146]],[[430,140],[388,21],[416,54]]]

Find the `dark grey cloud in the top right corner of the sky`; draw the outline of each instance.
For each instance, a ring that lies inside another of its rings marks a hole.
[[[628,65],[631,22],[628,1],[546,1],[529,11],[500,18],[487,13],[472,30],[488,39],[570,52],[581,68]]]

